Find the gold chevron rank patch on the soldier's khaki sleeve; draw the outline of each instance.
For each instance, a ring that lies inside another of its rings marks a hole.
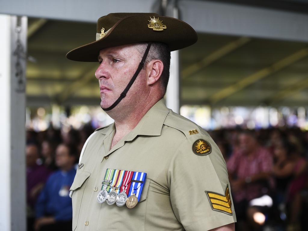
[[[231,210],[231,198],[229,193],[229,186],[227,184],[225,195],[221,195],[219,193],[213,193],[205,191],[206,195],[209,198],[209,202],[213,210],[222,212],[228,215],[233,215]]]

